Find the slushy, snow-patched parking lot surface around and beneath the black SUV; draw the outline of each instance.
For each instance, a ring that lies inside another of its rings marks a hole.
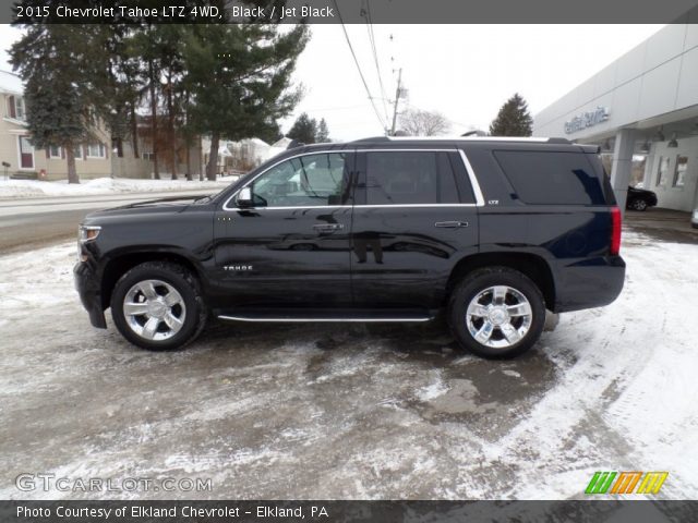
[[[660,497],[698,496],[698,245],[627,233],[622,296],[507,362],[443,323],[212,324],[141,351],[89,326],[74,251],[0,257],[0,498],[566,499],[595,471],[669,471]],[[22,473],[67,479],[24,491]]]

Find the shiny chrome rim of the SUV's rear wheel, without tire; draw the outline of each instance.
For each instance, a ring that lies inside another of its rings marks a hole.
[[[485,289],[468,304],[466,324],[470,336],[493,349],[507,349],[531,328],[531,304],[516,289],[495,285]]]

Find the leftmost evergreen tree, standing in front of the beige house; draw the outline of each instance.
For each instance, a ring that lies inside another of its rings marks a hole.
[[[10,50],[10,62],[25,82],[27,131],[41,149],[63,147],[69,183],[80,183],[75,148],[96,123],[94,78],[84,64],[89,33],[75,24],[37,24]]]

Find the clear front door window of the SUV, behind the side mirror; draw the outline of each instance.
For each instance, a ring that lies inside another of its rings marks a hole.
[[[286,160],[250,186],[255,207],[316,207],[347,199],[347,155],[323,153]]]

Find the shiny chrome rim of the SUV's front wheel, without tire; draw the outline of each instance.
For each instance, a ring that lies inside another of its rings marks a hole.
[[[123,316],[133,332],[146,340],[168,340],[184,325],[182,295],[161,280],[137,282],[123,299]]]

